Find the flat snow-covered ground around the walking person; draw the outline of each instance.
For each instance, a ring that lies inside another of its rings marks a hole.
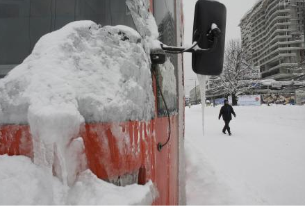
[[[186,108],[188,205],[305,205],[305,107],[234,107],[233,135],[220,107]]]

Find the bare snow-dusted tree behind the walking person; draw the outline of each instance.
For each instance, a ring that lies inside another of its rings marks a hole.
[[[222,88],[231,95],[233,106],[237,105],[240,94],[244,94],[257,83],[252,69],[240,40],[230,40],[224,52],[224,69],[220,80]]]

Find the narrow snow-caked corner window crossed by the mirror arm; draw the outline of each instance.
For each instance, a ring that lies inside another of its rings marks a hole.
[[[154,0],[154,16],[158,26],[159,40],[167,45],[177,45],[176,15],[174,0]],[[178,58],[174,54],[167,54],[164,65],[157,67],[157,81],[163,93],[170,115],[178,113],[177,74]],[[157,93],[158,116],[167,115],[160,92]]]

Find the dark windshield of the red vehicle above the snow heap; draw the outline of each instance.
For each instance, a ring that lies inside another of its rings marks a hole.
[[[0,78],[47,33],[76,20],[135,28],[122,0],[0,0]]]

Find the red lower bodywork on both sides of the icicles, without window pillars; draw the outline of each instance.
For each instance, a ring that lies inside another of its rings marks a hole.
[[[144,175],[142,183],[151,180],[158,188],[155,205],[178,205],[177,117],[171,117],[170,121],[171,139],[160,152],[156,146],[167,140],[167,117],[149,122],[85,124],[80,136],[90,169],[106,180],[140,172]],[[33,158],[29,126],[0,126],[0,144],[0,154]]]

